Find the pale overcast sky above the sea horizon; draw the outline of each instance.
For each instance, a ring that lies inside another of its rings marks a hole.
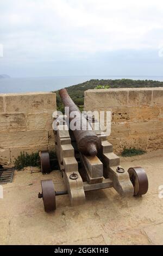
[[[0,74],[161,76],[161,0],[0,0]]]

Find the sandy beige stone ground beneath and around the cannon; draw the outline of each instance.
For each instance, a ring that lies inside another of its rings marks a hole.
[[[57,210],[46,214],[41,179],[52,178],[55,190],[65,186],[59,171],[42,175],[29,169],[15,172],[3,185],[0,199],[1,245],[155,245],[163,244],[163,150],[121,159],[125,168],[142,166],[149,179],[145,196],[122,198],[112,188],[86,193],[86,203],[70,206],[68,196],[57,197]]]

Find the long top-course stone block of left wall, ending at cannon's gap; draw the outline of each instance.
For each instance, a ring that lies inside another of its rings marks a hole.
[[[33,113],[56,108],[55,93],[4,94],[7,113]]]

